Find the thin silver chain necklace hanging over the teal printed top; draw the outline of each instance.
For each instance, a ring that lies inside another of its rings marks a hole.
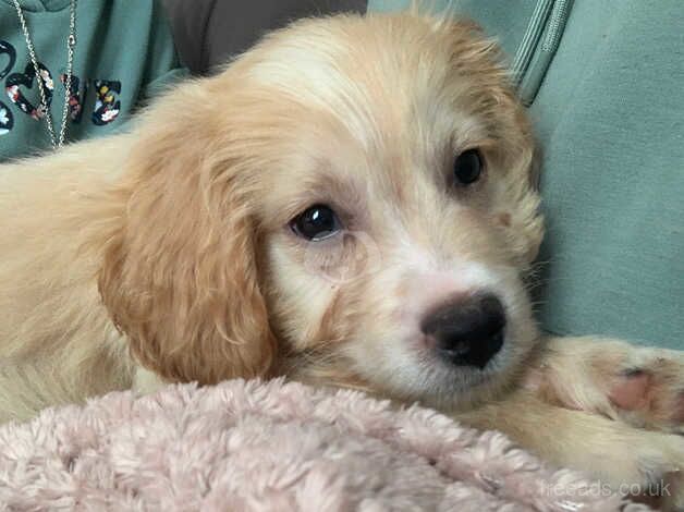
[[[59,139],[54,135],[54,126],[52,124],[52,114],[50,113],[50,107],[48,105],[47,96],[45,94],[45,87],[42,86],[42,78],[40,70],[38,69],[38,59],[36,58],[36,50],[28,33],[28,26],[26,25],[26,19],[22,12],[22,7],[19,4],[19,0],[14,0],[14,8],[16,9],[16,15],[24,31],[24,38],[26,39],[26,47],[28,48],[28,54],[30,56],[30,62],[34,66],[36,74],[36,82],[38,82],[38,92],[40,93],[40,114],[45,118],[48,133],[50,134],[50,142],[53,149],[59,149],[64,145],[64,137],[66,136],[66,120],[69,118],[69,100],[71,99],[71,81],[74,63],[74,47],[76,46],[76,0],[71,0],[69,11],[69,37],[66,38],[66,81],[64,84],[64,108],[62,109],[62,125],[60,127]]]

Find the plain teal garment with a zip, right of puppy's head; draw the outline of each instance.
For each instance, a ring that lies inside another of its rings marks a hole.
[[[543,151],[543,327],[684,349],[684,2],[433,3],[520,72]]]

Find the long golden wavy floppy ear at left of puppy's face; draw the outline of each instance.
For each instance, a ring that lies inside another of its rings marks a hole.
[[[264,375],[276,348],[255,258],[257,187],[210,96],[186,85],[135,132],[99,273],[136,358],[200,383]]]

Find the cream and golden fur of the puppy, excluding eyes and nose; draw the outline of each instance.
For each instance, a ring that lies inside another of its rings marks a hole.
[[[594,374],[575,369],[552,398],[543,385],[565,353],[539,345],[525,292],[542,236],[535,146],[499,60],[469,23],[305,20],[174,88],[129,134],[1,167],[2,418],[162,381],[286,375],[469,411],[563,464],[590,467],[572,449],[587,436],[619,453],[611,420],[567,422],[559,406],[596,389]],[[453,157],[472,147],[486,174],[459,188]],[[345,236],[291,231],[316,203]],[[454,370],[415,325],[479,289],[501,297],[506,341],[486,370]],[[643,449],[604,468],[611,481],[684,460],[664,434],[619,430]]]

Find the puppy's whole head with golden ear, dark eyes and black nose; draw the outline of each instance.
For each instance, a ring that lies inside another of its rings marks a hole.
[[[145,365],[457,404],[529,352],[533,141],[473,26],[303,21],[147,117],[100,275]]]

